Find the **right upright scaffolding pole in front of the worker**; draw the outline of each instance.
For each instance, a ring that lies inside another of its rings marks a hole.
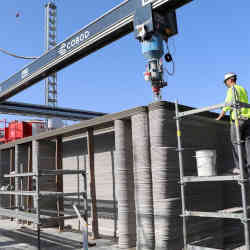
[[[233,104],[234,104],[234,112],[235,112],[235,130],[236,130],[236,143],[237,143],[237,149],[238,149],[238,155],[239,155],[239,167],[240,167],[240,186],[241,186],[241,197],[242,197],[242,206],[243,206],[243,214],[244,219],[242,220],[242,223],[244,225],[244,233],[245,233],[245,249],[250,250],[250,241],[249,241],[249,226],[248,226],[248,214],[247,214],[247,194],[246,194],[246,185],[248,182],[245,180],[245,174],[244,174],[244,163],[243,163],[243,155],[242,155],[242,142],[241,142],[241,134],[240,134],[240,126],[239,126],[239,115],[238,115],[238,109],[240,107],[237,105],[237,92],[235,87],[233,87]]]

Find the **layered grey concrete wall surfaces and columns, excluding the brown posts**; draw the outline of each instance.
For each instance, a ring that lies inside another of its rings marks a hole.
[[[180,106],[180,110],[189,107]],[[121,115],[122,114],[122,115]],[[126,115],[127,114],[127,115]],[[119,237],[120,249],[136,247],[137,250],[181,250],[183,247],[179,162],[176,137],[174,104],[157,102],[148,107],[105,116],[103,123],[110,127],[94,135],[94,167],[99,233]],[[118,117],[118,118],[117,118]],[[233,167],[229,122],[215,121],[216,115],[204,113],[181,121],[184,147],[184,172],[196,176],[195,151],[215,149],[218,174]],[[76,126],[74,136],[63,142],[63,169],[88,169],[87,138],[84,130],[96,128],[101,119],[83,122]],[[92,125],[93,124],[93,125]],[[98,125],[98,126],[99,126]],[[72,127],[73,128],[73,127]],[[59,131],[59,130],[58,130]],[[64,130],[62,131],[62,135]],[[71,132],[73,129],[70,130]],[[57,132],[54,132],[56,134]],[[59,132],[57,133],[59,135]],[[44,138],[46,135],[43,136]],[[42,138],[42,136],[41,136]],[[25,142],[27,143],[27,142]],[[27,151],[23,144],[24,151]],[[26,146],[25,146],[26,145]],[[25,168],[21,147],[16,148],[15,161]],[[27,152],[24,152],[27,154]],[[0,183],[3,173],[8,172],[9,149],[0,151]],[[55,142],[40,140],[33,145],[33,158],[38,168],[55,169]],[[90,176],[88,174],[88,180]],[[17,183],[18,184],[18,183]],[[89,183],[90,184],[90,183]],[[55,179],[41,183],[44,190],[55,190]],[[64,176],[64,192],[79,192],[83,188],[80,175]],[[217,211],[241,206],[238,184],[192,183],[185,186],[186,207],[193,211]],[[90,185],[88,197],[90,198]],[[2,196],[1,196],[2,197]],[[2,198],[0,204],[2,205]],[[72,215],[72,202],[82,209],[80,195],[65,197],[65,215]],[[43,208],[55,209],[55,202],[45,200]],[[91,202],[89,201],[89,206]],[[90,223],[92,214],[89,214]],[[65,225],[78,228],[77,220]],[[208,248],[225,249],[244,235],[240,221],[192,217],[187,220],[188,242]],[[90,228],[91,231],[91,228]]]

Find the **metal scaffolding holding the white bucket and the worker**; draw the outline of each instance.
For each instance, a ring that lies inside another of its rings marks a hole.
[[[183,241],[184,241],[184,250],[194,250],[194,249],[212,249],[212,248],[203,248],[200,246],[193,245],[188,242],[188,225],[187,218],[188,217],[207,217],[207,218],[222,218],[222,219],[235,219],[240,220],[244,225],[244,236],[245,236],[245,249],[250,250],[250,242],[249,242],[249,225],[248,221],[248,206],[247,206],[247,184],[248,184],[248,176],[244,171],[243,164],[243,152],[242,152],[242,141],[240,135],[240,127],[239,127],[239,111],[241,108],[250,108],[249,104],[239,102],[237,100],[237,93],[235,88],[233,87],[233,101],[232,103],[222,103],[218,105],[213,105],[205,108],[189,110],[185,112],[179,112],[178,101],[176,101],[175,109],[176,109],[176,127],[177,127],[177,151],[179,156],[179,170],[180,170],[180,186],[181,186],[181,201],[182,201],[182,221],[183,221]],[[184,175],[184,160],[183,160],[183,151],[190,150],[188,148],[184,148],[182,146],[181,139],[181,119],[196,115],[201,112],[211,111],[220,109],[223,107],[229,106],[235,112],[235,130],[236,130],[236,145],[239,155],[239,175],[230,175],[230,176],[185,176]],[[185,197],[185,185],[188,183],[202,183],[202,182],[223,182],[223,181],[234,181],[238,182],[241,188],[241,198],[242,198],[242,207],[239,209],[231,208],[226,210],[218,210],[216,212],[203,212],[203,211],[188,211],[186,209],[186,197]],[[243,211],[243,212],[242,212]],[[241,212],[241,213],[238,213]],[[215,248],[213,248],[215,249]]]

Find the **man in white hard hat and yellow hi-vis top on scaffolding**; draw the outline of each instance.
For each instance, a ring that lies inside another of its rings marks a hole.
[[[233,102],[233,91],[235,90],[236,100],[239,102],[248,104],[248,95],[247,91],[240,85],[236,83],[237,75],[235,73],[227,73],[224,76],[224,83],[228,88],[226,103]],[[227,111],[230,111],[230,137],[232,143],[233,159],[234,159],[234,168],[230,171],[231,174],[240,174],[239,168],[239,156],[237,149],[237,140],[236,140],[236,129],[235,129],[235,111],[231,107],[224,107],[217,117],[216,120],[220,120]],[[247,175],[250,175],[250,109],[241,108],[239,112],[239,128],[241,136],[241,148],[243,155],[243,164],[244,171]]]

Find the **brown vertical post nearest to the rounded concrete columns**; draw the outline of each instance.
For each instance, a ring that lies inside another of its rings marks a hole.
[[[90,195],[91,195],[91,214],[92,214],[92,237],[99,238],[98,217],[96,208],[96,185],[95,185],[95,159],[94,159],[94,133],[93,128],[88,129],[88,160],[90,169]]]

